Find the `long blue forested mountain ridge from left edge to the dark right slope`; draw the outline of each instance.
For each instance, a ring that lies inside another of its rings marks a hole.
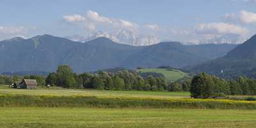
[[[85,43],[51,35],[12,38],[0,42],[0,72],[52,72],[63,64],[70,65],[75,72],[163,65],[181,68],[225,56],[234,47],[236,45],[177,42],[136,47],[117,44],[104,37]]]

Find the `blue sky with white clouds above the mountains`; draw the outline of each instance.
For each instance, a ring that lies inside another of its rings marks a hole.
[[[194,44],[237,40],[256,34],[255,6],[256,0],[1,0],[0,40],[120,29]]]

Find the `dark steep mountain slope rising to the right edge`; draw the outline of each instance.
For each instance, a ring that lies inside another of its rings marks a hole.
[[[222,77],[244,75],[256,77],[256,35],[221,58],[186,69],[191,72],[208,72]]]

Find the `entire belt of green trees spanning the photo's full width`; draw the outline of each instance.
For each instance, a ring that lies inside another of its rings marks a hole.
[[[61,65],[56,72],[47,76],[0,76],[0,84],[12,84],[22,79],[36,79],[38,86],[59,86],[62,88],[92,88],[96,90],[141,90],[157,92],[191,92],[193,98],[222,97],[225,95],[256,95],[256,79],[238,77],[221,79],[205,72],[191,79],[167,83],[164,77],[141,77],[137,72],[97,72],[97,74],[76,74],[67,65]]]

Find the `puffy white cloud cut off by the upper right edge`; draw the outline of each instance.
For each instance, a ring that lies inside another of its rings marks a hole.
[[[256,24],[256,13],[247,12],[242,10],[239,16],[241,22],[245,24]]]

